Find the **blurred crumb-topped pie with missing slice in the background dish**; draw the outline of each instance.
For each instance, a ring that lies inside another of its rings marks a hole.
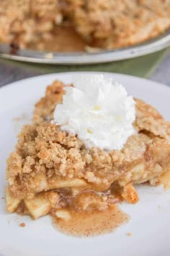
[[[169,27],[169,0],[6,0],[0,6],[0,41],[19,48],[113,49]]]

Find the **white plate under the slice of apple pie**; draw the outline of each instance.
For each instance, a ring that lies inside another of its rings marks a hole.
[[[74,73],[75,74],[75,73]],[[0,89],[0,255],[1,256],[157,256],[170,255],[170,190],[140,185],[140,200],[135,205],[122,203],[131,217],[117,231],[93,238],[68,237],[59,233],[49,216],[32,221],[5,211],[6,158],[17,142],[16,133],[27,123],[33,105],[54,79],[71,82],[71,73],[50,74],[17,81]],[[153,81],[121,74],[108,74],[124,84],[129,94],[146,100],[170,120],[170,88]],[[23,118],[24,114],[24,118]],[[22,116],[16,122],[14,118]],[[19,224],[26,226],[21,228]],[[132,235],[128,237],[127,233]]]

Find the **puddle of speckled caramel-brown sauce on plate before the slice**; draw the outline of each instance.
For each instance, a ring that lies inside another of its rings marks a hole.
[[[117,206],[112,206],[104,211],[69,211],[71,219],[54,218],[55,226],[64,234],[76,237],[92,237],[106,234],[125,224],[129,216]]]

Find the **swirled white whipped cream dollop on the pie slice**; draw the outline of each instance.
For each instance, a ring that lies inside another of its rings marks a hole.
[[[102,75],[73,76],[53,122],[77,135],[87,148],[122,149],[135,133],[135,101],[121,84]]]

